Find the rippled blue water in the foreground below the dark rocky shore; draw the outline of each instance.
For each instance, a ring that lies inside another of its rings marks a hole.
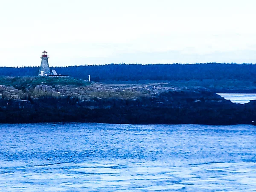
[[[0,125],[0,191],[256,191],[252,125]]]

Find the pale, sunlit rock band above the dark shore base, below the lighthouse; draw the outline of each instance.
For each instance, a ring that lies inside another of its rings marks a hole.
[[[17,90],[14,87],[0,85],[0,96],[4,99],[40,98],[41,96],[71,97],[86,101],[87,99],[138,99],[154,97],[168,91],[180,91],[180,88],[166,87],[165,84],[129,85],[129,84],[91,84],[75,87],[70,85],[49,86],[39,84],[35,88]],[[186,90],[186,88],[184,88]]]

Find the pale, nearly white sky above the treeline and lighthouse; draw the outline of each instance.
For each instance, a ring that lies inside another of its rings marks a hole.
[[[256,63],[256,0],[0,0],[0,66]]]

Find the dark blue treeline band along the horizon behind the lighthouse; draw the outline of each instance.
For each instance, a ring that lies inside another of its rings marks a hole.
[[[254,64],[107,64],[52,67],[57,73],[93,81],[248,80],[255,81]],[[37,76],[38,67],[0,67],[0,76]]]

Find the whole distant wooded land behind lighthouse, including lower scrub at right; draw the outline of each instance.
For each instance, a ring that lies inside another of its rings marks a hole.
[[[256,90],[256,64],[106,64],[50,67],[72,78],[106,84],[167,82],[173,87],[216,90]],[[38,76],[38,67],[0,67],[1,76]]]

